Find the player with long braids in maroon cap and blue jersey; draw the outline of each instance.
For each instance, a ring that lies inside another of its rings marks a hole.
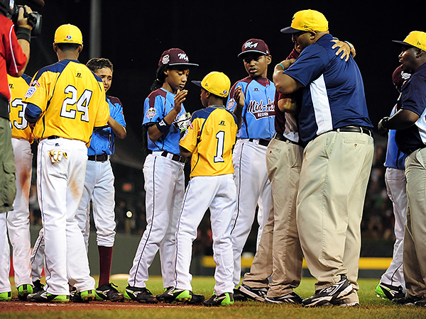
[[[160,249],[164,289],[173,288],[175,233],[185,191],[183,172],[185,157],[179,155],[180,129],[174,123],[183,116],[190,67],[185,52],[178,48],[166,50],[158,62],[153,91],[145,100],[143,127],[148,135],[148,156],[143,164],[146,190],[146,230],[139,242],[129,286],[124,297],[141,303],[156,303],[146,289],[148,268]]]

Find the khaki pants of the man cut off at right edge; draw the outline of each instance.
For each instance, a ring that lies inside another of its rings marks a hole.
[[[407,221],[403,268],[407,296],[426,297],[426,148],[405,159]]]

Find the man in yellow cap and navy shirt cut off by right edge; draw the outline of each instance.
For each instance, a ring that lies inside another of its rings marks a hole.
[[[403,41],[399,61],[411,73],[402,87],[400,110],[378,123],[379,131],[396,130],[395,140],[405,154],[407,220],[403,268],[407,293],[397,303],[426,306],[426,33],[411,32]]]

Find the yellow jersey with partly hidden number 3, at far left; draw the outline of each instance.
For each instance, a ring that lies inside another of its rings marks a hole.
[[[23,96],[31,83],[31,77],[23,74],[22,77],[11,77],[7,74],[9,89],[11,90],[11,100],[9,101],[9,118],[11,120],[12,138],[23,138],[33,142],[33,134],[28,122],[25,119],[26,103],[23,103]]]

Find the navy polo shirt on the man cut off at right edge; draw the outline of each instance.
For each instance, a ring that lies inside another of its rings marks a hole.
[[[420,118],[405,130],[397,130],[396,144],[405,154],[426,147],[426,63],[421,65],[403,85],[401,108],[416,113]]]

